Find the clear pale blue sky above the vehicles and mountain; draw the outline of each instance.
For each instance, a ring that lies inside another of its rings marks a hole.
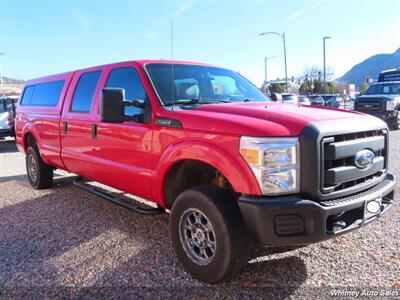
[[[29,79],[104,63],[170,58],[240,71],[256,84],[327,65],[335,77],[377,53],[400,47],[400,1],[0,0],[0,62],[5,76]]]

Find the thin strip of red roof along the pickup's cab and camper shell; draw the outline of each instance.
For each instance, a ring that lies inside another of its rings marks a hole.
[[[121,62],[115,62],[115,63],[104,64],[104,65],[91,66],[91,67],[87,67],[87,68],[76,69],[76,70],[73,70],[73,71],[64,72],[64,73],[57,73],[57,74],[52,74],[52,75],[48,75],[48,76],[32,78],[32,79],[27,80],[25,82],[25,85],[31,85],[31,84],[35,84],[35,83],[39,83],[39,82],[60,80],[60,79],[68,78],[68,77],[72,76],[73,73],[75,73],[76,71],[84,71],[86,69],[97,68],[97,67],[108,67],[108,66],[124,64],[124,63],[136,63],[136,64],[139,64],[139,65],[142,65],[142,66],[145,65],[145,64],[150,64],[150,63],[155,64],[155,63],[157,63],[157,64],[190,64],[190,65],[217,67],[216,65],[212,65],[212,64],[194,62],[194,61],[184,61],[184,60],[169,60],[169,59],[128,60],[128,61],[121,61]]]

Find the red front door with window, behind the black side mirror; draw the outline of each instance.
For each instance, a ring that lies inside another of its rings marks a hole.
[[[96,132],[92,138],[95,180],[145,199],[152,199],[151,175],[153,165],[150,124],[151,106],[136,66],[122,63],[107,69],[102,87],[123,88],[125,98],[145,100],[146,111],[126,107],[125,115],[131,120],[122,123],[100,122],[99,100],[96,102]]]

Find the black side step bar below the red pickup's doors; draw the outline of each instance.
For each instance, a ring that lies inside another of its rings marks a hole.
[[[134,203],[132,199],[127,199],[122,198],[122,197],[114,197],[111,194],[108,194],[106,192],[100,191],[99,189],[96,189],[95,187],[92,187],[88,184],[85,184],[87,181],[85,179],[83,179],[82,177],[78,177],[76,178],[72,183],[73,185],[75,185],[76,187],[85,190],[87,192],[90,192],[92,194],[95,194],[96,196],[99,196],[101,198],[104,198],[108,201],[114,202],[118,205],[121,205],[127,209],[133,210],[134,212],[137,212],[139,214],[143,214],[143,215],[156,215],[156,214],[161,214],[164,213],[165,210],[160,207],[142,207],[136,203]]]

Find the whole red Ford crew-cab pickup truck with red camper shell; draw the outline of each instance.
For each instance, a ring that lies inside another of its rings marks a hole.
[[[30,80],[16,139],[36,189],[62,169],[169,212],[179,260],[205,282],[240,270],[249,241],[322,241],[394,199],[384,122],[276,103],[206,64],[130,61]]]

